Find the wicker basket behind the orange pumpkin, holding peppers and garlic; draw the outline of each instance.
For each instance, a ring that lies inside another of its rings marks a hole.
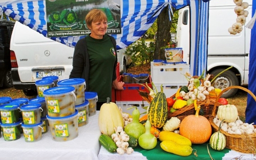
[[[175,94],[171,97],[174,98]],[[215,102],[216,102],[216,98],[209,98],[209,96],[207,96],[205,100],[197,101],[197,105],[200,105],[201,109],[203,110],[202,116],[206,117],[207,119],[211,116],[212,110],[214,109]],[[221,103],[219,103],[217,101],[217,106],[219,106],[219,105],[221,105]],[[217,108],[217,111],[218,111],[218,108]],[[196,114],[196,110],[195,110],[195,106],[193,103],[193,104],[184,106],[183,108],[181,108],[173,113],[169,113],[168,119],[170,119],[172,117],[177,117],[180,120],[183,120],[186,116],[195,115],[195,114]]]

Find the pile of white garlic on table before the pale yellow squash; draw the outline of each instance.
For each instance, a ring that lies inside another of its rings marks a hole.
[[[132,147],[129,147],[129,136],[123,130],[123,127],[117,126],[114,128],[115,133],[111,135],[112,140],[116,143],[117,153],[119,154],[131,154],[134,150]]]

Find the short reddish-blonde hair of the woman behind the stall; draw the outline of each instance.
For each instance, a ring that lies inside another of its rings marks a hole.
[[[104,11],[100,9],[92,9],[86,15],[86,24],[90,27],[92,26],[92,22],[108,20]]]

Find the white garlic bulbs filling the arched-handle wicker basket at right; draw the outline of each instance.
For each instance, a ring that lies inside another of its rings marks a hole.
[[[219,126],[221,120],[218,119],[218,115],[213,119],[213,122]],[[238,119],[234,122],[222,122],[221,129],[228,132],[229,134],[236,134],[236,135],[242,135],[242,134],[255,134],[256,128],[254,128],[253,123],[243,123],[238,117]]]

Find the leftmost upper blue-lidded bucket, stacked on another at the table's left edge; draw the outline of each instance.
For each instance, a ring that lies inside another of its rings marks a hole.
[[[3,124],[16,123],[19,121],[19,104],[6,103],[0,105],[1,121]]]

